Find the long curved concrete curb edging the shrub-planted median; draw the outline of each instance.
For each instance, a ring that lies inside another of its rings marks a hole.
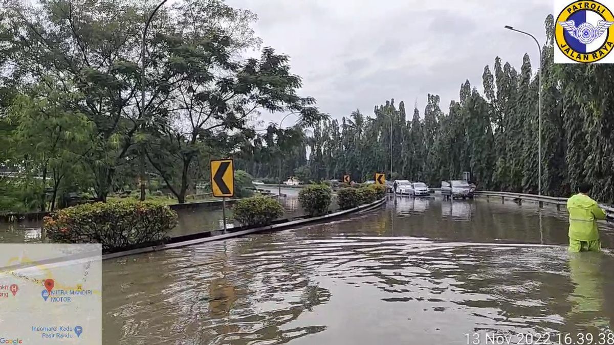
[[[380,207],[380,206],[382,206],[385,203],[386,203],[386,198],[384,197],[384,198],[382,198],[382,199],[380,199],[378,201],[374,201],[373,203],[370,203],[370,204],[364,204],[364,205],[361,205],[359,207],[355,207],[353,209],[348,209],[348,210],[344,210],[344,211],[334,212],[334,213],[331,213],[331,214],[321,215],[319,217],[312,217],[312,218],[298,219],[298,220],[290,220],[289,222],[268,225],[266,227],[258,227],[258,228],[252,228],[252,229],[247,229],[247,230],[239,230],[239,231],[225,233],[225,234],[216,235],[216,236],[207,236],[208,234],[211,233],[211,231],[207,231],[206,233],[199,234],[199,235],[202,235],[203,238],[196,238],[196,239],[190,239],[188,241],[181,241],[181,242],[169,243],[169,244],[160,244],[159,246],[147,246],[147,247],[136,248],[136,249],[131,249],[131,250],[124,250],[122,252],[104,254],[103,255],[103,260],[108,260],[108,259],[111,259],[111,258],[118,258],[118,257],[125,257],[127,255],[144,254],[144,253],[149,253],[149,252],[158,252],[160,250],[165,250],[165,249],[173,249],[173,248],[181,248],[181,247],[193,246],[194,244],[201,244],[201,243],[211,242],[211,241],[219,241],[220,239],[235,238],[235,237],[239,237],[239,236],[243,236],[243,235],[250,235],[250,234],[254,234],[254,233],[260,233],[260,232],[263,232],[263,231],[285,230],[285,229],[288,229],[288,228],[296,227],[297,225],[306,225],[306,224],[309,224],[309,223],[322,222],[323,220],[335,219],[337,217],[341,217],[342,215],[346,215],[346,214],[363,213],[363,212],[371,211],[372,209]],[[204,236],[207,236],[207,237],[204,237]]]

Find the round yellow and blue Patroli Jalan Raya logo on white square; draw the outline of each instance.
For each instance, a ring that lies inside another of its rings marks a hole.
[[[614,16],[604,3],[556,1],[554,63],[614,63],[614,55],[605,59],[614,49]]]

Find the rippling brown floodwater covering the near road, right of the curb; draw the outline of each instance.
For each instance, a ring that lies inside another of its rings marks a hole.
[[[614,229],[600,228],[612,248]],[[103,343],[614,344],[614,257],[570,255],[566,242],[553,207],[398,198],[333,223],[109,260]]]

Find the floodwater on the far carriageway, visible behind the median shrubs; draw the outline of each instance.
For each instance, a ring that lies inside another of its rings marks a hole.
[[[277,193],[277,188],[274,188],[274,193]],[[284,206],[284,217],[297,217],[303,214],[296,197],[298,195],[297,190],[284,190],[282,188],[282,193],[287,194],[287,197],[279,199],[282,206]],[[223,228],[223,212],[221,208],[195,207],[193,209],[179,210],[177,214],[177,226],[171,230],[170,236],[190,235]],[[226,219],[228,228],[239,225],[233,219],[232,207],[230,205],[228,205],[226,210]],[[23,222],[0,221],[0,243],[45,242],[41,228],[42,220]]]

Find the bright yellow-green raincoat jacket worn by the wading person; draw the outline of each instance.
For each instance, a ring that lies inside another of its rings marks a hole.
[[[567,200],[569,238],[577,241],[599,239],[597,219],[605,219],[605,212],[588,195],[578,193]]]

